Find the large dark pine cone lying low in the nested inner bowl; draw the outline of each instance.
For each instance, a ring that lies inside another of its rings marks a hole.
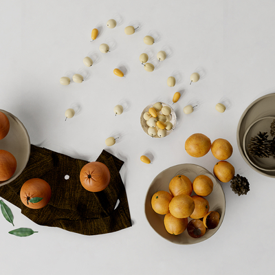
[[[273,140],[267,140],[267,132],[259,132],[251,137],[248,153],[254,157],[270,157],[274,155]]]

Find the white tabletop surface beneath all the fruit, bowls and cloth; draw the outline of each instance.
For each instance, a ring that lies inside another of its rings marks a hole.
[[[274,178],[256,173],[245,163],[236,144],[236,127],[248,105],[275,91],[275,2],[250,1],[1,1],[1,109],[23,122],[32,144],[89,161],[102,149],[124,160],[121,176],[126,186],[133,226],[99,236],[83,236],[60,228],[36,225],[12,209],[16,228],[38,234],[19,238],[1,218],[1,274],[272,274],[274,270]],[[111,30],[105,24],[116,19]],[[124,34],[127,25],[140,29]],[[91,41],[91,30],[100,35]],[[143,43],[152,35],[156,43]],[[98,47],[108,43],[110,53]],[[159,50],[169,53],[158,63]],[[156,66],[144,70],[138,60],[146,52]],[[88,68],[85,56],[97,62]],[[113,74],[124,66],[126,78]],[[201,80],[189,85],[192,72]],[[81,84],[59,83],[61,76],[83,74]],[[177,83],[166,85],[168,76]],[[155,140],[142,131],[140,113],[151,102],[170,104],[181,99],[175,131]],[[226,104],[225,113],[214,106]],[[113,107],[122,104],[116,116]],[[190,115],[182,109],[198,104]],[[65,110],[78,109],[65,122]],[[230,163],[250,181],[248,195],[239,197],[230,183],[222,184],[225,219],[207,241],[175,245],[151,228],[144,214],[144,198],[153,178],[181,163],[212,171],[211,153],[195,159],[184,150],[192,133],[212,141],[230,141]],[[107,148],[104,140],[120,137]],[[140,162],[151,153],[153,164]],[[0,194],[1,195],[1,194]]]

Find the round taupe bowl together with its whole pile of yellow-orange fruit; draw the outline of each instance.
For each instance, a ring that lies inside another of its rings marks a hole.
[[[148,188],[145,214],[164,239],[190,245],[209,239],[225,214],[225,195],[219,181],[196,164],[163,170]]]

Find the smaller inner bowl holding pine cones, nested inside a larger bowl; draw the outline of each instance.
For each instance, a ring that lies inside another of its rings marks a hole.
[[[250,144],[251,142],[251,137],[254,137],[260,131],[262,133],[267,132],[268,139],[272,140],[273,137],[270,134],[270,125],[272,124],[273,120],[275,120],[274,116],[260,118],[259,120],[253,122],[243,135],[243,151],[245,153],[245,157],[247,157],[250,163],[254,165],[256,168],[259,168],[264,171],[275,171],[274,157],[254,157],[249,153],[248,144]]]

